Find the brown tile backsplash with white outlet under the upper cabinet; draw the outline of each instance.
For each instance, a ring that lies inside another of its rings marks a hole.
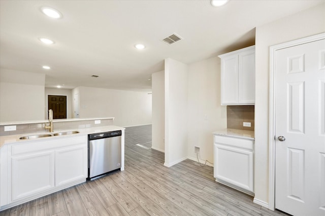
[[[243,122],[250,122],[251,127],[244,127]],[[254,106],[227,106],[227,128],[254,131]]]

